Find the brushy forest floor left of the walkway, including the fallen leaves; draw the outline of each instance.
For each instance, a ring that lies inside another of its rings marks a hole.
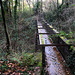
[[[23,15],[24,16],[24,15]],[[17,30],[13,23],[7,23],[10,34],[10,54],[6,58],[6,40],[3,26],[0,25],[0,74],[40,75],[42,67],[41,51],[35,52],[35,17],[20,16]],[[2,24],[2,23],[0,23]],[[17,32],[17,41],[15,40]]]

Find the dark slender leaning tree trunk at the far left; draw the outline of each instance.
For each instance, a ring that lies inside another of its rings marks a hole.
[[[0,0],[0,4],[1,4],[1,11],[2,11],[3,25],[4,25],[5,35],[6,35],[7,53],[9,53],[10,39],[8,36],[7,26],[6,26],[6,22],[5,22],[5,13],[4,13],[3,5],[2,5],[2,0]]]

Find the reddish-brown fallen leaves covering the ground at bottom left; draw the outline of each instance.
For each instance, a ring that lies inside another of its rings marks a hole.
[[[17,61],[0,61],[0,75],[40,75],[40,67],[28,67]]]

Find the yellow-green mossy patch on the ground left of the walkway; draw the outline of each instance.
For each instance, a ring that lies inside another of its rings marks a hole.
[[[42,54],[41,52],[37,53],[23,53],[21,61],[23,62],[24,65],[27,66],[40,66],[42,65]]]

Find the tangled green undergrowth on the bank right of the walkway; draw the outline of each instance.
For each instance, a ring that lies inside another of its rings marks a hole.
[[[48,10],[50,9],[50,10]],[[70,4],[66,7],[63,4],[60,8],[50,7],[45,9],[44,18],[51,24],[56,30],[60,32],[58,36],[67,38],[67,43],[75,44],[75,4]],[[55,35],[54,35],[55,36]],[[70,55],[67,57],[67,66],[71,68],[73,74],[75,74],[75,47],[71,47]]]

